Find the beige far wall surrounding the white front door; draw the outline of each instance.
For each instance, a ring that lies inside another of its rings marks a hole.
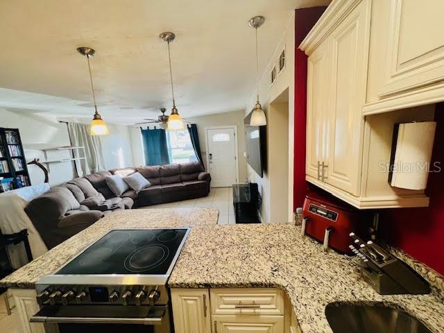
[[[202,151],[202,158],[207,166],[205,144],[205,128],[211,126],[236,126],[237,127],[237,152],[239,154],[239,182],[244,182],[247,175],[247,162],[244,156],[245,152],[245,135],[244,135],[244,110],[234,112],[224,112],[217,114],[209,114],[207,116],[187,118],[187,121],[196,123],[199,135],[200,151]]]

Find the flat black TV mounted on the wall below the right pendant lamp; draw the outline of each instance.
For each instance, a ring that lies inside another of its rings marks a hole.
[[[244,119],[247,163],[262,178],[266,171],[266,126],[250,126],[251,113]]]

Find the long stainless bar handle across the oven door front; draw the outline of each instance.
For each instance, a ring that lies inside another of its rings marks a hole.
[[[32,316],[30,323],[90,323],[90,324],[143,324],[161,325],[160,318],[96,318],[96,317],[42,317]]]

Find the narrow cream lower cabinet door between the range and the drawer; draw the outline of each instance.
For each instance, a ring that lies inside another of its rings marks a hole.
[[[171,289],[175,332],[211,332],[209,300],[207,289]]]

